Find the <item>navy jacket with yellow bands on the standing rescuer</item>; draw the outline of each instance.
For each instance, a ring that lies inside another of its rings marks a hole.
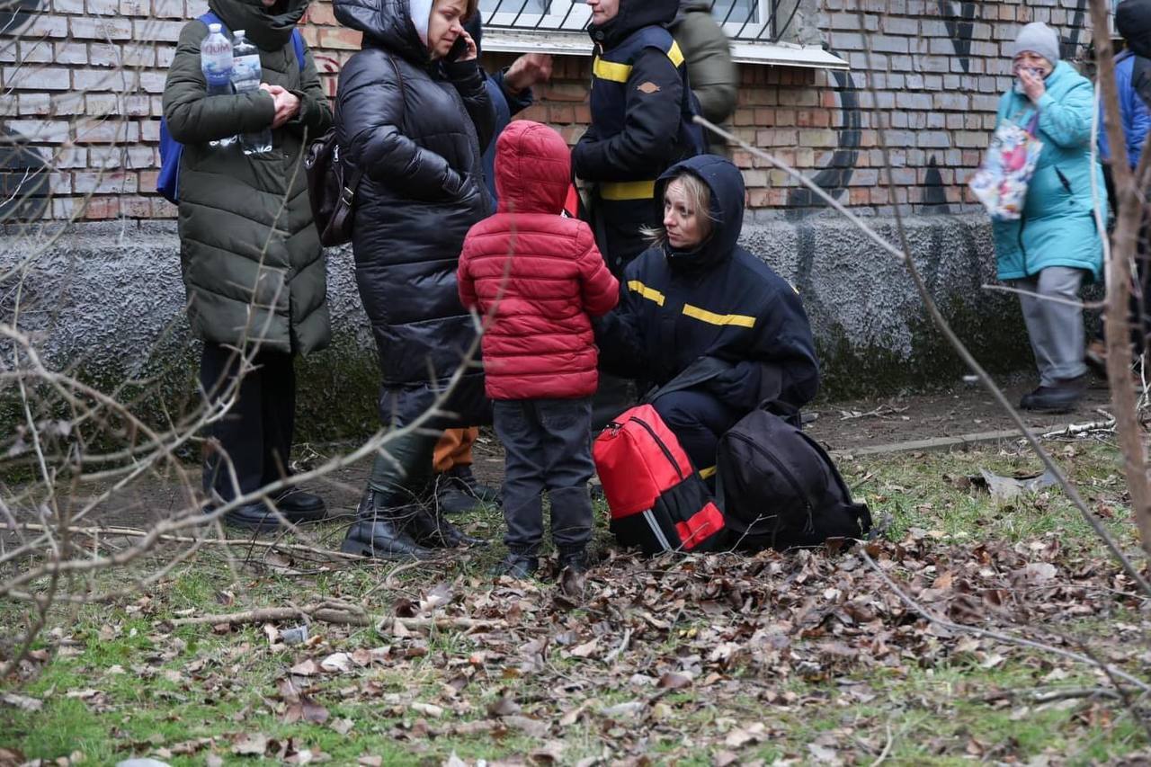
[[[611,271],[646,248],[642,226],[658,226],[655,180],[677,160],[702,151],[691,122],[694,96],[679,46],[666,30],[678,0],[620,0],[619,14],[588,28],[592,126],[572,150],[576,175],[594,182],[592,228]]]

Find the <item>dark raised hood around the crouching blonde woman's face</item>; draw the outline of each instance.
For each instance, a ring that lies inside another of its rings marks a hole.
[[[711,235],[693,251],[674,251],[665,246],[668,263],[676,269],[701,271],[731,258],[744,228],[744,175],[731,160],[718,154],[698,154],[677,162],[660,176],[655,199],[661,215],[663,190],[676,176],[687,170],[703,180],[711,190]]]

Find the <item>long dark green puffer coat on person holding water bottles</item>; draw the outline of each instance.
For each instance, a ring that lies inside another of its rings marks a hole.
[[[299,113],[273,131],[273,151],[245,155],[239,142],[209,141],[261,130],[275,115],[264,91],[213,96],[200,73],[207,26],[180,35],[163,89],[163,116],[184,144],[180,166],[180,243],[189,318],[207,341],[307,354],[330,339],[323,251],[312,222],[303,157],[306,142],[331,126],[331,111],[312,54],[299,70],[291,31],[307,0],[211,0],[229,30],[243,29],[260,48],[262,81],[300,99]]]

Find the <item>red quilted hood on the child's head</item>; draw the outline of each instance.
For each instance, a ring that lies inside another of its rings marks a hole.
[[[554,129],[517,120],[496,142],[500,212],[554,213],[564,210],[572,180],[571,151]]]

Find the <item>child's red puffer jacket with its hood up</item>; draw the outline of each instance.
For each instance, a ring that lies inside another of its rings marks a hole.
[[[483,333],[493,400],[590,396],[599,351],[588,314],[619,299],[587,223],[559,215],[571,184],[564,139],[520,120],[496,143],[500,210],[472,227],[459,256],[459,299],[490,318]]]

